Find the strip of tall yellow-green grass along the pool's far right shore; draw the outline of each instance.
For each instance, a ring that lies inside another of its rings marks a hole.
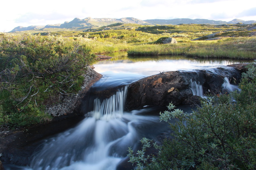
[[[199,58],[256,59],[256,38],[237,37],[213,41],[188,41],[177,44],[134,46],[128,55],[186,55]]]

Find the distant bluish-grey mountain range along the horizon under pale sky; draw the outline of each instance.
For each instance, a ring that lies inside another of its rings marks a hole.
[[[177,19],[147,19],[140,20],[137,18],[91,18],[87,17],[84,19],[75,18],[72,21],[64,22],[63,24],[54,24],[54,25],[46,25],[46,26],[18,26],[15,27],[10,32],[15,31],[27,31],[27,30],[36,30],[42,28],[65,28],[65,29],[91,29],[91,28],[99,28],[102,26],[108,26],[110,24],[115,23],[129,23],[129,24],[140,24],[140,25],[178,25],[178,24],[211,24],[211,25],[222,25],[222,24],[253,24],[256,23],[255,20],[244,21],[241,19],[233,19],[232,21],[215,21],[208,19],[189,19],[189,18],[177,18]]]

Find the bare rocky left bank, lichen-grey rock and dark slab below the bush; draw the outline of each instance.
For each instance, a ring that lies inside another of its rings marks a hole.
[[[59,99],[61,102],[46,107],[46,112],[53,115],[51,122],[14,129],[8,126],[0,127],[0,160],[2,162],[26,166],[30,155],[40,145],[42,139],[70,129],[83,120],[84,115],[75,112],[76,104],[102,77],[93,68],[93,66],[88,66],[86,74],[83,75],[82,89],[77,94],[62,95]]]

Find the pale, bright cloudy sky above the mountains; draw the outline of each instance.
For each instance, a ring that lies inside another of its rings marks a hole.
[[[255,0],[12,0],[2,1],[0,32],[62,24],[74,18],[256,20]]]

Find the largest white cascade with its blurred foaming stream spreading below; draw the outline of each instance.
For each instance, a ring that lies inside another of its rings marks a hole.
[[[146,131],[154,138],[166,127],[158,116],[140,115],[149,111],[146,108],[124,112],[126,91],[127,86],[102,102],[95,99],[90,116],[76,128],[46,140],[30,167],[23,169],[115,170],[128,147],[136,148]]]

